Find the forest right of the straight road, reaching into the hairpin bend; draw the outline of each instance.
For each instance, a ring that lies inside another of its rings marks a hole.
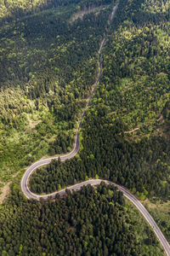
[[[138,2],[132,5],[119,3],[102,55],[103,75],[82,121],[80,153],[37,170],[30,179],[33,192],[50,193],[97,176],[124,185],[140,199],[169,199],[169,48],[159,44],[155,29],[169,32],[168,15],[157,23],[149,14],[148,20],[135,20],[144,10]],[[139,130],[131,133],[135,127]]]

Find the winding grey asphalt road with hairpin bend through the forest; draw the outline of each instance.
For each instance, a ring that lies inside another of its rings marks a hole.
[[[114,7],[114,9],[111,13],[110,22],[115,17],[116,9],[117,9],[117,5]],[[74,157],[77,154],[77,152],[79,150],[79,130],[80,130],[80,127],[82,125],[83,116],[84,116],[84,114],[85,114],[85,112],[86,112],[86,110],[87,110],[87,108],[88,108],[88,106],[91,102],[92,96],[95,93],[97,84],[98,84],[99,79],[101,77],[101,73],[102,73],[101,50],[103,49],[103,47],[105,45],[107,34],[108,34],[108,31],[106,31],[105,38],[103,39],[103,41],[101,42],[100,47],[99,47],[99,73],[98,73],[98,77],[97,77],[97,79],[94,83],[94,89],[92,90],[91,96],[88,98],[88,103],[87,103],[86,107],[84,108],[81,119],[79,120],[74,148],[72,149],[72,151],[69,154],[61,155],[60,156],[61,161],[71,159],[72,157]],[[55,196],[57,194],[58,195],[65,195],[65,189],[61,189],[60,191],[56,191],[56,192],[54,192],[52,194],[48,194],[48,195],[36,195],[36,194],[31,192],[31,190],[29,189],[29,186],[28,186],[29,177],[31,176],[31,173],[34,172],[37,169],[37,167],[48,165],[51,162],[51,160],[54,160],[54,159],[58,160],[58,158],[59,157],[52,157],[52,158],[48,158],[48,159],[44,159],[44,160],[38,160],[36,163],[32,164],[26,170],[26,172],[24,173],[24,175],[21,179],[21,189],[22,189],[22,192],[24,193],[24,195],[26,195],[26,197],[28,199],[32,198],[32,199],[35,199],[37,201],[40,201],[41,198],[44,199],[44,200],[47,200],[49,196],[52,197],[52,198],[55,198]],[[75,185],[72,185],[72,186],[68,187],[67,189],[77,191],[77,190],[80,190],[82,188],[82,186],[84,186],[84,185],[91,184],[91,185],[95,186],[95,185],[99,185],[99,183],[101,183],[101,182],[105,182],[107,184],[112,184],[112,185],[116,186],[116,188],[118,190],[122,191],[123,195],[126,196],[128,200],[133,202],[133,205],[139,209],[139,212],[142,213],[144,218],[147,220],[147,222],[153,228],[157,238],[161,242],[162,247],[164,248],[165,252],[167,253],[167,256],[170,256],[170,246],[169,246],[165,236],[163,236],[163,234],[161,233],[161,230],[157,226],[155,220],[151,217],[150,213],[144,208],[144,206],[141,204],[141,202],[134,195],[132,195],[127,189],[124,189],[123,187],[117,185],[116,183],[112,183],[110,181],[106,181],[106,180],[102,180],[102,179],[89,179],[88,181],[84,181],[82,183],[77,183]]]

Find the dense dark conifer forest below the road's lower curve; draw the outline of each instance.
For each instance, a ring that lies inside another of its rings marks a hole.
[[[48,202],[27,201],[14,188],[0,212],[0,254],[163,255],[143,219],[144,230],[137,240],[138,221],[122,193],[105,183],[73,194],[68,190],[64,198]]]

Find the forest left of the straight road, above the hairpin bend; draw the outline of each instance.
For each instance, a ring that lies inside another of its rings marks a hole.
[[[111,13],[108,1],[96,1],[96,11],[72,22],[85,7],[83,1],[80,6],[57,3],[2,23],[1,186],[42,156],[71,151],[77,120],[98,73],[97,52]]]

